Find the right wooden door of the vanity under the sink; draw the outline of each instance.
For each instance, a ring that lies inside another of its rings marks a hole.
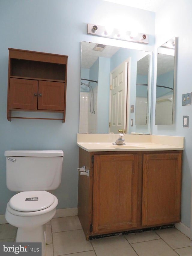
[[[144,154],[142,225],[180,221],[182,153]]]

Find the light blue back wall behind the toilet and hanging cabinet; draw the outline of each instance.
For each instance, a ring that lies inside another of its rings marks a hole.
[[[107,11],[106,11],[107,10]],[[149,34],[149,44],[87,35],[87,23],[123,26]],[[79,95],[81,41],[139,50],[154,50],[155,13],[102,0],[1,0],[0,1],[0,214],[14,194],[6,187],[7,149],[61,149],[62,181],[53,193],[58,209],[77,207]],[[66,121],[13,119],[7,121],[7,48],[68,55]]]

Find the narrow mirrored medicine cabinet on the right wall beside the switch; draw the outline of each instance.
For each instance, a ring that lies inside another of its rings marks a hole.
[[[173,125],[175,117],[177,38],[158,47],[155,125]]]

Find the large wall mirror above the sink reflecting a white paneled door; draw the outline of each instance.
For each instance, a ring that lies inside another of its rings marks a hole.
[[[82,42],[79,133],[150,134],[152,53]]]

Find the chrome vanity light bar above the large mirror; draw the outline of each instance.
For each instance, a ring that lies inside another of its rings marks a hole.
[[[107,27],[94,24],[87,24],[87,34],[129,42],[149,44],[149,35],[147,34],[136,33],[131,31],[122,32],[122,30],[120,29],[114,29],[112,27],[110,27],[110,29],[107,29]]]

